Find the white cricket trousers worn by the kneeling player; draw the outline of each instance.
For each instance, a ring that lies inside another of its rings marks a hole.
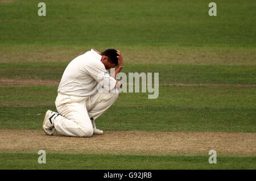
[[[97,119],[117,98],[117,90],[97,92],[85,97],[58,93],[55,105],[61,116],[57,116],[54,120],[54,127],[57,132],[65,136],[90,137],[93,135],[90,118]]]

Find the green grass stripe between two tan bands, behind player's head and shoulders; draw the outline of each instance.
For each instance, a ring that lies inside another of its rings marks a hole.
[[[43,79],[60,81],[67,64],[31,63],[0,64],[1,78]],[[54,70],[54,71],[53,71]],[[159,73],[159,83],[256,84],[256,66],[243,65],[171,65],[129,64],[123,68],[126,81],[129,73]],[[124,77],[125,78],[125,77]]]

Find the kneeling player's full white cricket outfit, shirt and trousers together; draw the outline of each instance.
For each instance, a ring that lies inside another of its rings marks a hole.
[[[66,136],[92,136],[90,118],[97,119],[117,99],[115,83],[93,49],[72,60],[58,88],[55,105],[61,116],[54,120],[55,129]],[[102,86],[105,92],[98,91]]]

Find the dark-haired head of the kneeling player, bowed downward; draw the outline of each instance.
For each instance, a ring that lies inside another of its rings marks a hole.
[[[110,68],[115,68],[118,65],[118,54],[115,49],[106,49],[104,52],[100,53],[102,58],[101,62],[105,65],[106,70]]]

